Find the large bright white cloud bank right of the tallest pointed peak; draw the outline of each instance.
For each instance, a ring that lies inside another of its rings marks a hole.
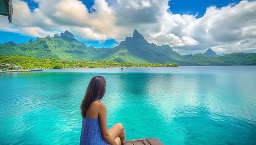
[[[221,9],[212,6],[199,19],[166,12],[160,16],[158,25],[159,30],[152,31],[146,38],[157,44],[167,43],[180,53],[202,53],[209,47],[217,53],[256,50],[253,45],[256,41],[256,1],[241,1]],[[161,36],[160,41],[154,34]],[[184,43],[166,41],[168,34],[174,34]],[[248,44],[239,43],[241,41],[248,41]]]

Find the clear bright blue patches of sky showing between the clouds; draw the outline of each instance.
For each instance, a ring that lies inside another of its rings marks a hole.
[[[33,0],[25,0],[28,3],[29,9],[34,11],[35,8],[38,8],[38,4]],[[83,0],[84,5],[86,5],[89,11],[93,11],[91,7],[94,5],[94,0]],[[230,3],[239,3],[238,0],[211,0],[211,1],[201,1],[201,0],[172,0],[169,1],[168,5],[170,6],[169,10],[172,11],[173,14],[193,14],[198,15],[197,17],[202,17],[206,11],[206,8],[212,5],[217,7],[223,7]],[[35,37],[24,36],[19,33],[11,33],[11,32],[3,32],[0,31],[0,36],[5,36],[0,39],[0,43],[5,43],[9,41],[13,41],[15,43],[25,43],[28,42],[30,38],[35,40]],[[83,40],[77,38],[79,41],[84,42],[87,46],[94,46],[97,48],[100,47],[113,47],[117,44],[114,39],[106,40],[105,42],[99,42],[95,40]]]

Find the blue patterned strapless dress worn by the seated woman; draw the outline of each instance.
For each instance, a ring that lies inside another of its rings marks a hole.
[[[99,118],[82,118],[81,145],[105,145],[108,144],[101,136]]]

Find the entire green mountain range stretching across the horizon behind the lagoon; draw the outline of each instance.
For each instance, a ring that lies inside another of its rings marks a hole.
[[[169,45],[158,46],[148,43],[137,30],[132,37],[126,37],[114,48],[87,47],[77,41],[72,33],[65,31],[60,35],[55,34],[54,37],[37,38],[36,41],[30,39],[28,43],[0,44],[0,54],[33,56],[38,59],[52,57],[68,61],[173,62],[179,66],[256,65],[256,53],[231,53],[218,56],[208,49],[204,54],[180,55]]]

